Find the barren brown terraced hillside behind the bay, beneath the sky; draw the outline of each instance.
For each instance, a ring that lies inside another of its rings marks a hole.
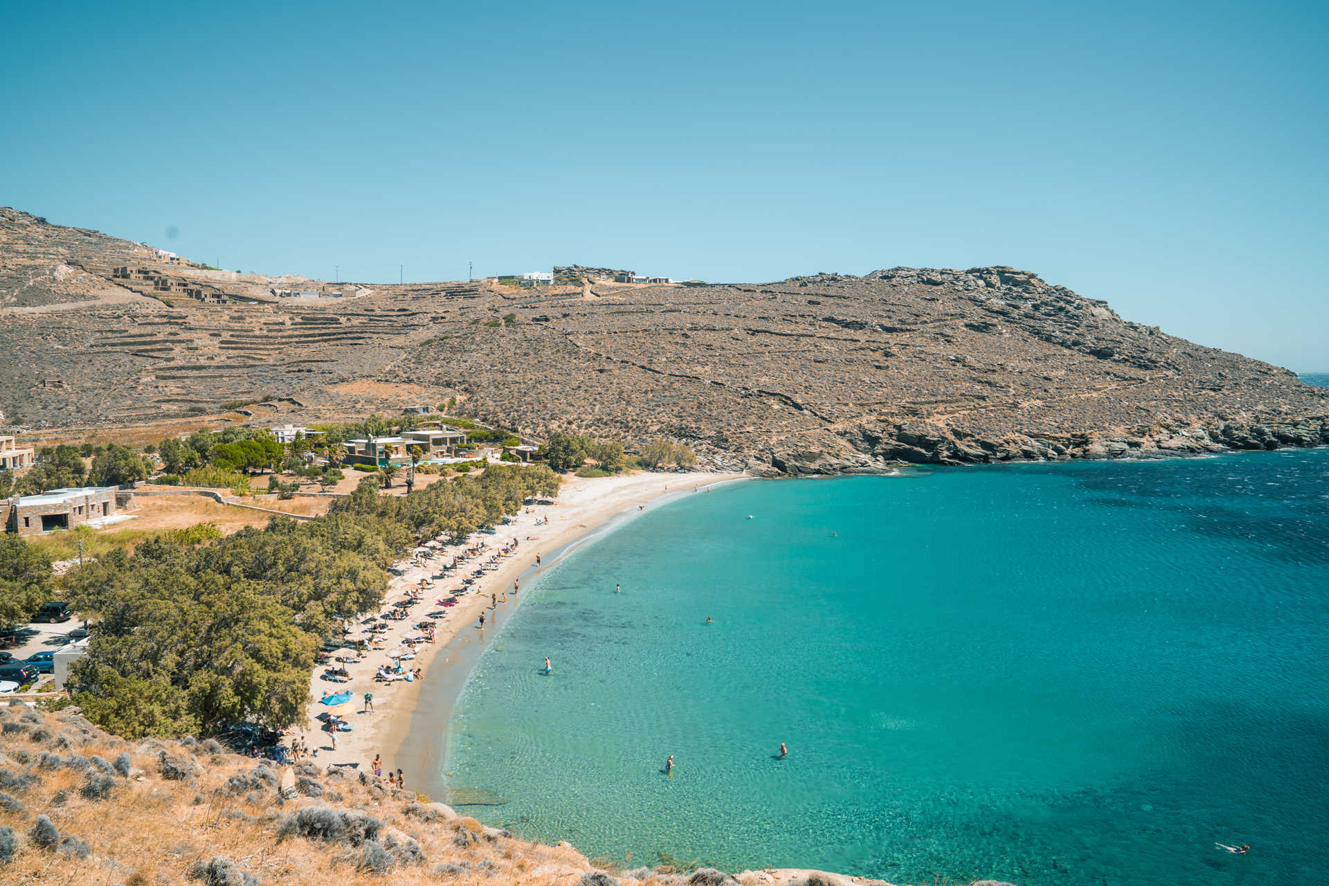
[[[49,227],[0,214],[0,252],[21,254],[29,275],[68,267],[110,286],[117,250],[134,246],[54,252]],[[0,408],[69,426],[243,399],[268,397],[255,420],[316,420],[457,397],[532,436],[667,436],[716,466],[768,473],[1329,442],[1329,391],[1007,267],[593,291],[373,286],[355,299],[211,283],[225,304],[73,300],[44,283],[51,310],[0,307],[13,357]]]

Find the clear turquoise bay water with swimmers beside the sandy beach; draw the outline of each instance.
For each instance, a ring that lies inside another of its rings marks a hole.
[[[1329,449],[748,481],[522,592],[445,764],[522,836],[896,883],[1329,879]]]

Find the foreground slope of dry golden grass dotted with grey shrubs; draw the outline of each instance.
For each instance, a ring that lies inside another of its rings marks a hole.
[[[0,882],[85,886],[889,886],[820,871],[593,866],[356,768],[129,744],[76,708],[0,708]]]

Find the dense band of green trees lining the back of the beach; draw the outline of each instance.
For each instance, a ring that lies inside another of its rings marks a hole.
[[[324,517],[276,517],[209,545],[154,538],[81,566],[64,579],[70,606],[93,622],[73,701],[132,737],[291,725],[319,644],[381,604],[393,559],[419,541],[493,526],[558,482],[544,468],[490,466],[388,497],[367,477]],[[25,563],[23,575],[33,573]]]

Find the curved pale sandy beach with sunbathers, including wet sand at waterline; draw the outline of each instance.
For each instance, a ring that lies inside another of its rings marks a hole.
[[[448,596],[460,587],[461,576],[469,575],[478,565],[468,562],[457,570],[456,576],[435,580],[423,591],[424,602],[411,611],[403,622],[391,622],[381,635],[381,650],[371,650],[364,659],[347,665],[351,679],[347,683],[332,683],[324,679],[324,665],[315,668],[311,681],[310,704],[307,705],[306,728],[298,729],[306,744],[316,749],[312,757],[320,768],[344,765],[372,769],[375,754],[381,754],[384,770],[401,769],[411,789],[423,786],[441,788],[439,764],[447,751],[447,719],[451,717],[452,701],[470,675],[480,652],[494,636],[498,622],[506,622],[521,604],[522,594],[512,594],[513,582],[520,580],[529,587],[536,575],[536,555],[541,555],[541,567],[550,566],[567,554],[593,533],[614,522],[617,518],[630,518],[649,505],[662,503],[670,495],[683,494],[692,487],[704,489],[722,482],[750,478],[746,473],[647,473],[638,472],[617,477],[579,478],[565,477],[558,495],[524,509],[510,523],[496,527],[492,537],[472,535],[485,539],[493,553],[504,543],[516,538],[517,549],[502,558],[497,569],[485,573],[470,590],[459,596],[456,606],[435,623],[436,635],[432,644],[417,647],[416,658],[403,667],[421,668],[420,680],[376,683],[373,673],[380,664],[391,663],[388,654],[399,650],[404,636],[419,635],[409,626],[435,610],[436,598]],[[638,510],[634,510],[638,509]],[[549,523],[536,526],[537,518],[548,517]],[[447,555],[456,547],[439,549]],[[490,551],[486,551],[486,554]],[[408,588],[419,586],[441,567],[441,557],[425,561],[424,566],[413,566],[411,559],[393,563],[389,573],[388,590],[384,594],[384,608],[400,599]],[[508,602],[498,602],[492,608],[490,594]],[[486,627],[478,628],[477,622],[485,614]],[[428,691],[425,691],[428,688]],[[352,699],[336,709],[336,713],[352,724],[351,732],[338,733],[336,748],[331,745],[330,735],[323,731],[316,716],[326,708],[319,704],[322,692],[351,692]],[[373,693],[373,712],[363,711],[363,693]],[[447,704],[435,707],[439,699]],[[441,723],[440,723],[441,715]],[[420,736],[425,727],[439,729],[437,740]],[[427,792],[428,793],[428,792]]]

